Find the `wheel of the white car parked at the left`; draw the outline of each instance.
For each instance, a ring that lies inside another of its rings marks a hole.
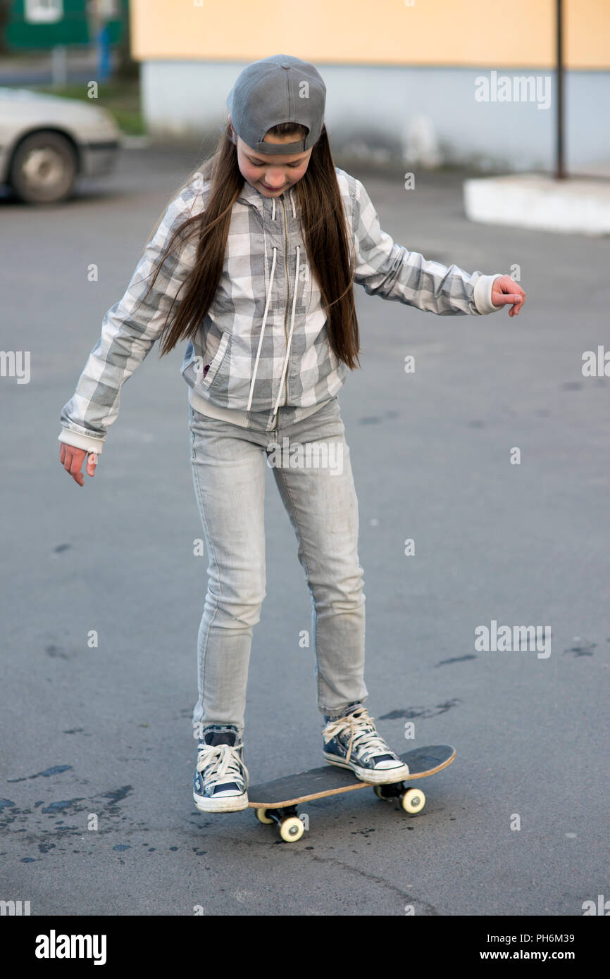
[[[76,153],[66,136],[32,132],[15,151],[9,182],[28,204],[51,204],[70,197],[77,168]]]

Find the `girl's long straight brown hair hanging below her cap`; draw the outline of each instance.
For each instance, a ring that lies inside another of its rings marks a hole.
[[[303,138],[306,129],[295,122],[282,122],[269,132]],[[195,338],[218,288],[231,209],[244,185],[230,123],[227,123],[211,157],[191,174],[182,189],[198,172],[204,183],[211,180],[206,210],[188,217],[174,230],[149,288],[150,292],[176,242],[185,242],[197,235],[195,265],[181,287],[184,288],[184,295],[180,298],[171,326],[168,326],[167,315],[160,343],[161,356],[181,340]],[[305,249],[326,310],[329,344],[337,357],[353,370],[356,364],[360,366],[358,322],[353,300],[353,252],[325,125],[322,125],[319,139],[311,149],[305,173],[295,187]]]

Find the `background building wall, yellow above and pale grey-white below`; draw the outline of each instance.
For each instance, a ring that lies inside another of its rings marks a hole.
[[[324,77],[336,152],[408,166],[430,144],[441,163],[552,167],[554,0],[415,0],[414,7],[269,0],[264,20],[253,9],[241,0],[133,2],[133,55],[152,132],[217,134],[239,71],[285,53],[312,61]],[[600,124],[610,115],[610,0],[566,0],[565,9],[566,155],[574,171],[610,160],[610,127]],[[480,79],[502,76],[511,100],[493,101],[492,85],[490,100],[478,101]],[[546,98],[518,98],[519,76]]]

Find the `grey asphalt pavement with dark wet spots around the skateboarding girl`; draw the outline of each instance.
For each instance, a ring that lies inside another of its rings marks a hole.
[[[60,412],[102,317],[197,159],[134,150],[67,205],[0,201],[1,347],[31,355],[28,383],[0,378],[0,898],[31,914],[582,915],[610,896],[610,380],[582,372],[584,351],[610,350],[610,242],[469,223],[464,174],[407,191],[352,170],[401,244],[469,271],[518,265],[528,300],[516,318],[440,317],[356,287],[362,369],[340,403],[367,706],[399,751],[449,743],[457,758],[426,780],[418,816],[351,793],[307,804],[284,844],[252,811],[192,803],[207,561],[183,345],[154,348],[123,387],[94,479],[78,488],[59,463]],[[309,595],[271,472],[265,521],[245,731],[257,782],[322,764]],[[550,655],[477,649],[493,622],[550,629]]]

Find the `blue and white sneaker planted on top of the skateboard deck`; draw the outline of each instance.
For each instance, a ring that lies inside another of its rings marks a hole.
[[[378,734],[375,721],[362,704],[352,704],[341,717],[324,717],[324,758],[331,765],[352,769],[356,778],[372,785],[399,782],[408,766]]]

